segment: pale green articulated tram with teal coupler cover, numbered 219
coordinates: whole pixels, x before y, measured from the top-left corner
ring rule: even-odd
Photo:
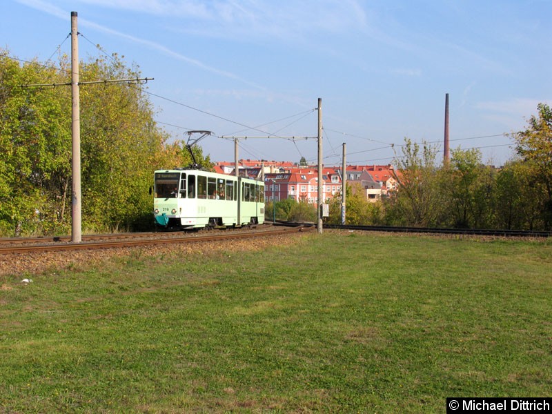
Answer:
[[[264,183],[197,169],[157,170],[153,216],[162,228],[240,227],[264,222]]]

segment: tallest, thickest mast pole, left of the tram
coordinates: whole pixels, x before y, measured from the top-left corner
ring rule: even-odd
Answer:
[[[77,12],[71,12],[71,141],[72,141],[72,223],[71,240],[81,237],[81,118],[79,104],[79,39]]]

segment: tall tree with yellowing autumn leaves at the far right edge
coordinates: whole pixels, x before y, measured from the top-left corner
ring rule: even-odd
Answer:
[[[532,115],[526,130],[514,137],[516,151],[530,169],[531,185],[542,188],[544,227],[552,228],[552,109],[539,103],[538,116]]]

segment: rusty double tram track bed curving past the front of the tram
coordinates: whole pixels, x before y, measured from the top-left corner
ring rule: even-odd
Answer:
[[[305,230],[304,226],[264,226],[262,229],[213,231],[208,233],[121,233],[111,235],[86,235],[81,243],[71,243],[70,236],[0,239],[0,255],[12,253],[47,253],[67,250],[93,250],[217,240],[244,239],[271,235],[290,234]]]

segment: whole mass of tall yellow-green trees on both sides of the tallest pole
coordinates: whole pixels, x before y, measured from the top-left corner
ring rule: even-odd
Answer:
[[[80,81],[137,79],[117,55],[80,64]],[[68,233],[71,214],[71,97],[67,57],[21,65],[0,52],[0,233]],[[153,171],[191,163],[181,141],[155,124],[144,86],[83,84],[81,192],[83,230],[151,224]],[[201,148],[200,164],[212,166]]]

